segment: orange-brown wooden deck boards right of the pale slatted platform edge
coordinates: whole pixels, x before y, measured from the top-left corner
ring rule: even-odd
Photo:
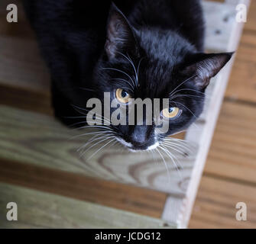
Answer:
[[[248,220],[235,220],[235,204]],[[241,37],[190,228],[256,228],[256,1]]]

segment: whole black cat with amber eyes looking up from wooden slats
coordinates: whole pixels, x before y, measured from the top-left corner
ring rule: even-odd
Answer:
[[[154,149],[189,127],[203,111],[209,80],[232,53],[203,53],[199,0],[26,0],[24,6],[50,68],[56,116],[81,125],[89,98],[170,98],[157,125],[110,124],[132,150]],[[111,109],[111,113],[115,109]],[[127,112],[128,113],[128,112]],[[143,112],[144,113],[144,112]]]

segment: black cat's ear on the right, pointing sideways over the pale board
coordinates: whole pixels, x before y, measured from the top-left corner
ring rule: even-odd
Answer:
[[[206,88],[209,80],[215,76],[232,58],[233,53],[199,53],[194,61],[183,69],[183,73],[193,76],[193,82],[199,89]]]

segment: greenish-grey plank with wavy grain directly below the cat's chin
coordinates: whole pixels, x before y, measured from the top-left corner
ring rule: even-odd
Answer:
[[[86,130],[87,131],[87,130]],[[87,131],[88,132],[88,131]],[[85,133],[85,131],[80,131]],[[184,154],[172,152],[180,161],[180,174],[171,159],[148,152],[130,153],[120,147],[108,147],[88,159],[105,142],[89,149],[83,157],[76,150],[91,135],[76,137],[78,132],[67,130],[52,117],[0,106],[0,155],[3,159],[28,162],[51,169],[81,173],[91,177],[152,188],[182,197],[193,168],[196,147]]]

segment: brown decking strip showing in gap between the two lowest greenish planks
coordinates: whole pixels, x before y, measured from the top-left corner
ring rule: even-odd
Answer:
[[[0,181],[160,218],[166,194],[0,159]]]

